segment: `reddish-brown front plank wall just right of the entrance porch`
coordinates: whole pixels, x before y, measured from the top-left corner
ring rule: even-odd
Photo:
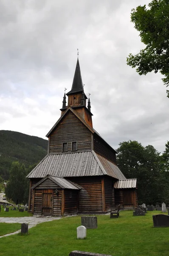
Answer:
[[[79,213],[102,212],[101,177],[72,177],[80,185]]]

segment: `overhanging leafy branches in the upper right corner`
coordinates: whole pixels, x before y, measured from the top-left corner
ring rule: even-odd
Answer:
[[[166,87],[169,85],[169,0],[152,0],[146,5],[132,9],[131,21],[140,32],[141,42],[146,47],[127,58],[127,64],[139,75],[158,71]],[[169,97],[169,90],[166,90]]]

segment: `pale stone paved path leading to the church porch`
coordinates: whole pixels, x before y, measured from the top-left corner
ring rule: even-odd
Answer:
[[[16,218],[6,218],[6,217],[3,218],[3,217],[1,217],[0,218],[0,222],[3,222],[3,223],[20,223],[20,224],[27,223],[28,224],[28,228],[31,228],[31,227],[36,226],[39,223],[42,223],[42,222],[55,221],[55,220],[59,220],[59,219],[60,219],[60,217],[50,217],[50,216],[46,216],[46,217],[40,217],[40,216],[39,217],[35,217],[35,216],[32,216],[32,217],[16,217]],[[17,230],[14,233],[6,234],[4,236],[11,236],[11,235],[20,233],[20,231],[21,230]],[[0,236],[0,238],[2,238],[4,236]]]

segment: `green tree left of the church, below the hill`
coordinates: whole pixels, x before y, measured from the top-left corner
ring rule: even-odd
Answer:
[[[9,182],[5,188],[6,197],[15,204],[25,204],[26,169],[24,164],[13,162],[11,165]]]

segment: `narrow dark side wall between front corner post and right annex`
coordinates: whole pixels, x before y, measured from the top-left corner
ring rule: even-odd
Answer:
[[[106,212],[107,212],[107,211],[110,211],[111,208],[115,207],[113,179],[111,179],[110,177],[104,178],[104,193],[105,193],[105,206],[106,206]]]

